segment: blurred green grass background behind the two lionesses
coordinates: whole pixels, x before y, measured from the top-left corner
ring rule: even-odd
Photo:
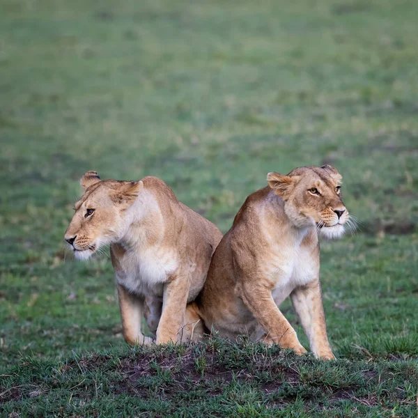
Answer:
[[[109,258],[65,256],[85,171],[158,176],[225,232],[268,171],[324,163],[364,224],[322,244],[334,351],[417,358],[417,1],[0,8],[0,369],[123,344]]]

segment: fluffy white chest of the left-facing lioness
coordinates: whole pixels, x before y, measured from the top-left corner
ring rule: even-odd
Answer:
[[[115,268],[118,284],[143,296],[162,297],[164,283],[178,268],[172,249],[150,247],[145,251],[125,251]]]

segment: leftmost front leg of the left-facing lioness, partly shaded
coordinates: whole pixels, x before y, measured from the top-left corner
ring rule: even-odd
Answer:
[[[123,338],[132,346],[150,344],[153,339],[141,332],[142,313],[144,311],[144,297],[129,293],[120,284],[118,286],[119,309],[121,310]]]

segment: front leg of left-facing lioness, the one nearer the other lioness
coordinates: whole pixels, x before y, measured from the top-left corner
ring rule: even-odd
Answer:
[[[181,327],[185,324],[189,278],[176,276],[164,284],[162,314],[157,328],[157,344],[181,342]]]

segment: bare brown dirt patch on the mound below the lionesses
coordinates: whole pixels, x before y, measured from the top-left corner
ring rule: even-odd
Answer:
[[[196,359],[204,358],[202,366],[196,366]],[[230,382],[259,382],[258,385],[266,394],[277,392],[286,383],[294,387],[300,385],[297,370],[290,366],[278,364],[270,357],[255,354],[248,368],[233,368],[219,360],[219,353],[141,353],[137,357],[121,359],[118,370],[121,380],[113,383],[116,394],[128,393],[141,398],[160,396],[165,399],[177,396],[179,390],[187,391],[194,388],[205,390],[207,396],[219,396],[222,387]],[[272,376],[281,376],[276,380],[260,380],[259,373],[266,371]],[[151,379],[150,379],[151,378]],[[160,379],[160,386],[155,385],[155,378]],[[210,390],[208,390],[210,388]],[[156,394],[157,391],[157,394]]]

